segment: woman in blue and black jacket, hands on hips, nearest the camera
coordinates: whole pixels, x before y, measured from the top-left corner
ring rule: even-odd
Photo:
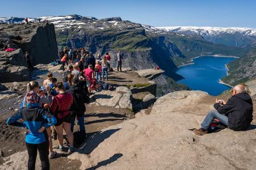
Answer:
[[[42,169],[49,169],[49,141],[46,128],[56,124],[56,118],[47,109],[38,107],[39,90],[38,82],[28,83],[28,89],[33,89],[26,95],[26,106],[19,112],[9,117],[6,124],[12,126],[27,127],[26,146],[28,151],[28,169],[35,169],[36,155],[39,156]],[[18,121],[22,119],[23,122]]]

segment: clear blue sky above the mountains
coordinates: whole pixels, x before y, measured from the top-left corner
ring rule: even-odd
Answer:
[[[256,28],[254,0],[82,1],[8,0],[1,2],[0,17],[39,17],[79,14],[98,19],[120,16],[123,20],[163,26]]]

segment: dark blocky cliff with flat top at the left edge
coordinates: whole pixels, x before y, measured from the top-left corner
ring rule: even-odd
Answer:
[[[30,79],[24,53],[28,52],[32,65],[49,63],[58,58],[53,24],[1,24],[0,39],[10,42],[13,52],[0,51],[0,81],[12,82]]]

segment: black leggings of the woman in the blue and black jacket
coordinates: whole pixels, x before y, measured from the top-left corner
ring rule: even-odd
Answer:
[[[47,138],[48,139],[48,138]],[[42,164],[43,170],[49,170],[49,143],[39,143],[39,144],[31,144],[27,143],[27,151],[28,151],[28,162],[27,162],[27,169],[28,170],[34,170],[35,169],[35,162],[36,162],[36,156],[39,151],[39,157]]]

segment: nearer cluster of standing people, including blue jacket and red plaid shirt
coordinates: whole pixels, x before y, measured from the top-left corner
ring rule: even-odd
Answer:
[[[69,77],[68,77],[69,79]],[[71,80],[71,79],[69,79]],[[36,155],[39,151],[42,169],[49,169],[48,158],[55,158],[52,140],[57,136],[59,150],[63,151],[63,130],[67,134],[68,152],[73,147],[73,127],[79,122],[79,133],[86,137],[84,126],[85,103],[89,103],[86,82],[74,76],[67,90],[63,82],[57,82],[52,73],[47,74],[43,86],[32,81],[27,84],[27,94],[20,110],[7,120],[7,125],[27,128],[26,146],[28,150],[28,169],[35,169]],[[23,121],[19,121],[20,118]]]

